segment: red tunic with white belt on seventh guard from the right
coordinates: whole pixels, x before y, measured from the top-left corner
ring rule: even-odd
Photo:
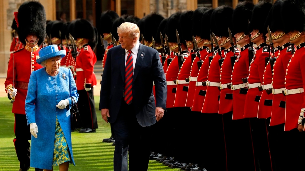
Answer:
[[[216,52],[215,52],[216,53]],[[222,57],[224,57],[224,49],[221,50]],[[218,60],[220,59],[220,55],[214,56],[210,63],[210,67],[208,69],[208,81],[220,83],[220,66]],[[219,108],[219,96],[220,91],[219,87],[216,86],[207,86],[206,88],[206,96],[203,102],[203,107],[201,113],[218,113]]]

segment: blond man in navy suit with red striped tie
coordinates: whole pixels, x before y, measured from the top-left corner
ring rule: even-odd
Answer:
[[[121,45],[108,51],[99,110],[103,120],[113,124],[116,136],[114,171],[128,170],[127,151],[129,169],[143,171],[148,169],[149,127],[163,117],[166,108],[166,79],[159,52],[140,44],[136,24],[122,23],[117,33]]]

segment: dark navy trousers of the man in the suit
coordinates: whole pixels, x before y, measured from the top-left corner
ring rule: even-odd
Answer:
[[[144,171],[148,169],[149,162],[149,127],[142,127],[138,124],[133,103],[127,105],[124,102],[124,98],[122,99],[117,120],[113,123],[116,143],[114,148],[113,170],[128,170],[127,155],[129,153],[129,170]]]

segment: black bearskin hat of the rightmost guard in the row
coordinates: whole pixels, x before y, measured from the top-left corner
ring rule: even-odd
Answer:
[[[304,0],[285,0],[281,4],[281,17],[284,24],[284,32],[290,31],[305,31],[305,2]]]

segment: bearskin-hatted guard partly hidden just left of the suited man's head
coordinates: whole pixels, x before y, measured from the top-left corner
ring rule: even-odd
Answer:
[[[112,42],[112,37],[110,36],[110,32],[111,32],[111,28],[113,25],[113,21],[117,18],[119,18],[117,13],[114,11],[111,11],[111,10],[102,12],[101,17],[100,17],[100,24],[101,24],[100,33],[102,34],[104,40],[106,40],[108,43],[108,46],[106,47],[105,54],[104,54],[103,60],[102,60],[103,68],[104,68],[104,65],[106,62],[108,50],[111,47],[113,47],[113,42]]]

